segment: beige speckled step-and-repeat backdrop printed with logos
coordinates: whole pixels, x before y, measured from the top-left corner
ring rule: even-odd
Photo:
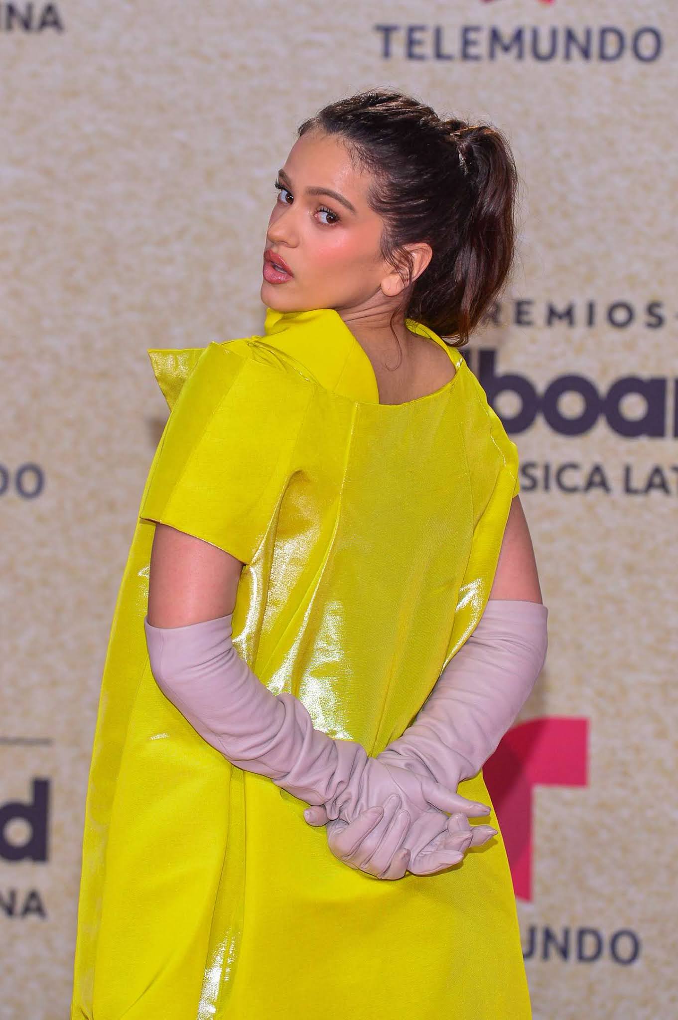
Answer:
[[[2,1020],[68,1016],[101,671],[167,413],[146,352],[262,330],[296,128],[374,86],[496,124],[521,175],[466,350],[551,611],[485,770],[534,1016],[678,1015],[677,56],[672,0],[0,3]]]

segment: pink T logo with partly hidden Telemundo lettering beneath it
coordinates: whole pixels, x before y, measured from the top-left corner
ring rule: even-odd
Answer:
[[[513,726],[482,769],[506,848],[516,897],[532,902],[532,797],[536,786],[586,786],[588,720],[531,719]],[[631,928],[609,934],[594,924],[530,924],[522,934],[526,961],[635,963],[640,937]]]

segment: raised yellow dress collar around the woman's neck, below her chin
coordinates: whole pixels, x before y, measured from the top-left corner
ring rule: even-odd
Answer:
[[[405,324],[449,350],[445,341],[423,323],[408,318]],[[350,400],[379,403],[372,363],[334,308],[302,312],[266,308],[262,341],[294,358],[300,370],[305,368],[326,390]]]

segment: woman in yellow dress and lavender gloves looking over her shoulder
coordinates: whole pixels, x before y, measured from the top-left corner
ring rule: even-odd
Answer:
[[[149,352],[170,415],[104,667],[71,1017],[524,1020],[480,768],[546,610],[458,350],[509,272],[515,166],[376,90],[305,121],[275,187],[263,336]]]

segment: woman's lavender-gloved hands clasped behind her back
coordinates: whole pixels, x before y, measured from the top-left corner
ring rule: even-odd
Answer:
[[[487,814],[487,805],[406,767],[397,752],[383,751],[367,766],[369,807],[347,806],[336,818],[322,806],[304,812],[310,825],[326,825],[330,851],[349,867],[382,879],[433,874],[497,834],[490,825],[468,823],[468,816]]]

